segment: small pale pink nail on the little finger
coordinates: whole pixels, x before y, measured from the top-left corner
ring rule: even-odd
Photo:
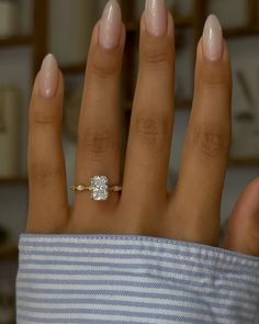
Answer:
[[[58,65],[55,56],[48,54],[42,63],[40,71],[40,92],[44,98],[52,98],[57,91]]]

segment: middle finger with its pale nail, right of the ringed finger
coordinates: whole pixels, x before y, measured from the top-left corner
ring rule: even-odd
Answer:
[[[165,2],[147,1],[121,200],[122,204],[137,202],[133,209],[142,205],[154,211],[156,203],[165,204],[174,116],[173,34]]]

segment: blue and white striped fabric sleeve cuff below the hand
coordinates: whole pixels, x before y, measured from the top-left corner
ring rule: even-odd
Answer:
[[[259,258],[140,235],[20,237],[16,323],[255,323]]]

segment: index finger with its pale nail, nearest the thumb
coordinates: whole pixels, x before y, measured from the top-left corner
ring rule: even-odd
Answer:
[[[195,87],[172,213],[184,237],[217,245],[232,137],[232,80],[226,43],[211,15],[198,45]]]

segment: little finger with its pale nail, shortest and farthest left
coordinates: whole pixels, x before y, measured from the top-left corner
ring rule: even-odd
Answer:
[[[58,232],[68,220],[61,144],[63,97],[63,76],[49,54],[36,77],[30,107],[29,232]]]

